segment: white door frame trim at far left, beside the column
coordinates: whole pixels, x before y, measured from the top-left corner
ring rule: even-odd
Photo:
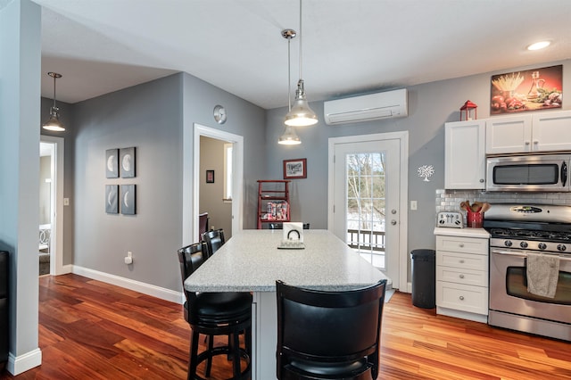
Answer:
[[[63,137],[40,135],[40,143],[53,144],[52,153],[52,231],[50,237],[50,275],[62,275],[63,271]],[[38,146],[39,149],[39,146]]]

